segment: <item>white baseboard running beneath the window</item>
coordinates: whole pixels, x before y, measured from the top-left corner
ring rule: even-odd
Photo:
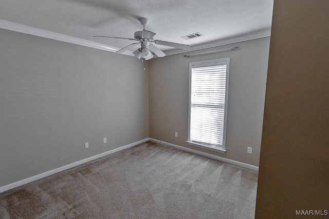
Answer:
[[[162,144],[162,145],[167,145],[169,147],[177,148],[177,149],[180,149],[180,150],[183,150],[183,151],[188,151],[188,152],[191,152],[191,153],[195,153],[195,154],[203,155],[203,156],[206,156],[206,157],[210,157],[210,158],[213,158],[213,159],[218,160],[218,161],[223,161],[223,162],[226,162],[226,163],[229,163],[229,164],[234,164],[236,166],[245,167],[245,168],[248,168],[248,169],[251,169],[251,170],[258,171],[258,169],[259,169],[259,167],[257,167],[257,166],[242,163],[242,162],[239,162],[239,161],[230,160],[228,158],[208,154],[208,153],[193,150],[193,149],[190,149],[190,148],[174,145],[174,144],[171,144],[171,143],[168,143],[168,142],[162,142],[162,141],[156,140],[154,138],[150,138],[150,141],[156,142],[156,143],[159,143],[159,144]]]

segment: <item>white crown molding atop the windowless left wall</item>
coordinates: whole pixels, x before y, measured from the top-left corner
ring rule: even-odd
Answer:
[[[8,22],[8,21],[3,21],[1,19],[0,19],[0,28],[16,31],[16,32],[20,32],[20,33],[26,33],[26,34],[30,34],[30,35],[34,35],[34,36],[41,36],[41,37],[45,37],[45,38],[49,38],[49,39],[55,39],[57,41],[62,41],[62,42],[66,42],[66,43],[77,44],[77,45],[91,47],[91,48],[95,48],[95,49],[101,49],[101,50],[110,51],[110,52],[116,52],[119,50],[119,48],[116,48],[116,47],[111,47],[111,46],[107,46],[104,44],[95,43],[92,41],[86,41],[85,39],[67,36],[67,35],[60,34],[60,33],[54,33],[54,32],[50,32],[47,30],[42,30],[42,29],[29,27],[29,26],[25,26],[25,25],[21,25],[21,24],[16,24],[16,23]],[[132,54],[130,51],[125,51],[121,54],[134,56],[134,54]]]

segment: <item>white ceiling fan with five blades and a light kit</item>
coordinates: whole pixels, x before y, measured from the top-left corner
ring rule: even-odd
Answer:
[[[138,43],[130,44],[130,45],[118,50],[117,52],[122,53],[122,52],[129,50],[130,48],[133,48],[134,46],[140,44],[141,48],[138,48],[137,50],[135,50],[133,52],[133,54],[138,59],[144,58],[145,60],[149,60],[150,58],[153,57],[152,52],[154,54],[156,54],[158,57],[163,57],[166,55],[155,45],[170,46],[170,47],[175,47],[175,48],[179,48],[179,49],[190,49],[189,45],[177,44],[177,43],[172,43],[172,42],[167,42],[167,41],[159,41],[158,39],[154,39],[153,36],[155,35],[155,33],[145,30],[145,26],[148,25],[149,19],[142,17],[139,19],[139,22],[141,25],[143,25],[143,30],[136,31],[134,38],[124,38],[124,37],[114,37],[114,36],[94,36],[94,37],[106,37],[106,38],[128,39],[130,41],[139,41]]]

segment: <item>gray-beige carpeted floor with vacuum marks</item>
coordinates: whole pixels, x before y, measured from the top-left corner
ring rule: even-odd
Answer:
[[[254,218],[257,177],[147,142],[0,194],[0,218]]]

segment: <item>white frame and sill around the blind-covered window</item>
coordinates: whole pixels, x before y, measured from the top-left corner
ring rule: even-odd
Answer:
[[[226,81],[225,81],[225,106],[224,106],[224,127],[223,127],[223,145],[222,147],[212,146],[208,144],[202,144],[198,142],[192,142],[190,136],[190,125],[191,125],[191,83],[192,83],[192,68],[215,66],[216,64],[226,63]],[[218,58],[207,61],[192,62],[189,64],[189,113],[188,113],[188,140],[187,143],[192,146],[206,148],[209,150],[225,153],[226,152],[226,131],[227,131],[227,109],[228,109],[228,90],[229,90],[229,69],[230,69],[230,58]]]

